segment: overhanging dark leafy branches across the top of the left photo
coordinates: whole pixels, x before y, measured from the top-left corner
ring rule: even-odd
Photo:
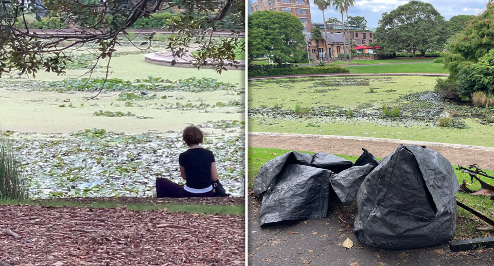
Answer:
[[[239,63],[235,61],[236,47],[245,47],[235,30],[232,38],[211,41],[215,23],[226,15],[240,25],[245,23],[244,0],[5,0],[0,6],[0,76],[12,70],[35,76],[40,69],[63,74],[72,51],[86,43],[99,47],[96,62],[111,59],[121,33],[128,37],[126,29],[136,21],[156,20],[154,16],[162,12],[171,13],[164,29],[176,33],[168,38],[167,48],[175,57],[197,49],[192,56],[198,68],[211,64],[206,59],[214,59],[221,73],[226,65]],[[39,34],[29,28],[29,17],[42,22],[42,15],[54,22],[54,27]],[[61,30],[68,25],[73,29]],[[151,33],[149,41],[137,46],[150,48],[153,36]],[[70,44],[61,45],[67,42]]]

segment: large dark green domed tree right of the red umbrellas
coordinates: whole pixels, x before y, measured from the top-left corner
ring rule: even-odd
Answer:
[[[410,1],[382,14],[376,29],[376,45],[385,54],[395,51],[437,49],[450,37],[444,17],[429,3]]]

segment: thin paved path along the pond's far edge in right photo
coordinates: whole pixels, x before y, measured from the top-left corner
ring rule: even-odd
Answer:
[[[299,79],[299,78],[327,78],[327,77],[449,77],[448,73],[327,73],[327,74],[295,74],[279,76],[249,77],[248,81],[268,79]]]

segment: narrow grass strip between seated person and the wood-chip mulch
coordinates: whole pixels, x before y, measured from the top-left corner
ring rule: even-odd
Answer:
[[[64,200],[49,200],[49,201],[11,201],[0,200],[0,205],[41,205],[45,207],[90,207],[98,209],[110,209],[122,206],[128,210],[146,211],[146,210],[164,210],[165,208],[169,212],[188,212],[191,214],[220,214],[220,215],[245,215],[245,205],[195,205],[195,204],[179,204],[179,203],[141,203],[141,204],[129,204],[120,205],[112,202],[91,202],[91,203],[78,203],[69,202]]]

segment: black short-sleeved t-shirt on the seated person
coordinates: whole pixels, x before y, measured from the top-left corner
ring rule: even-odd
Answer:
[[[211,163],[215,163],[213,152],[204,148],[188,149],[179,156],[179,164],[185,169],[186,185],[202,189],[211,185]]]

